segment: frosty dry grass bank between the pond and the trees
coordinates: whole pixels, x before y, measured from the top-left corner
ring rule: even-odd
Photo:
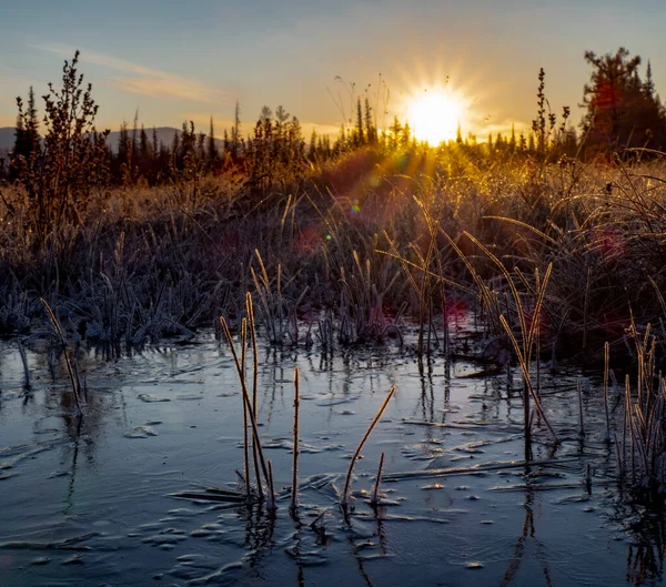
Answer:
[[[504,315],[523,344],[519,305],[536,300],[534,276],[551,265],[543,348],[601,360],[604,342],[624,346],[629,308],[638,324],[666,317],[656,294],[666,283],[659,160],[543,168],[455,149],[360,158],[262,199],[238,178],[199,182],[195,200],[186,184],[100,192],[47,249],[24,230],[29,203],[4,189],[0,328],[28,332],[43,320],[43,296],[77,336],[141,344],[221,313],[233,325],[254,290],[258,326],[274,344],[402,337],[406,314],[423,356],[446,347],[453,306],[478,305],[497,334]]]

